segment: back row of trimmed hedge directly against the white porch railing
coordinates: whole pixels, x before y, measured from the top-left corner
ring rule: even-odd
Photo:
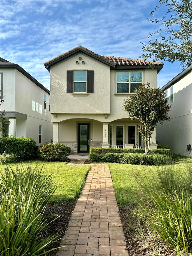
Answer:
[[[106,153],[145,153],[143,148],[90,148],[90,154],[103,155]],[[170,155],[170,149],[157,148],[149,150],[150,154]]]

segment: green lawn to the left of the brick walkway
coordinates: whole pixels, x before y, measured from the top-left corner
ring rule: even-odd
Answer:
[[[24,162],[25,167],[28,162]],[[78,197],[84,184],[86,175],[90,170],[89,165],[72,166],[66,165],[66,162],[42,162],[31,161],[31,166],[43,165],[43,170],[47,170],[47,174],[53,173],[53,178],[57,189],[50,200],[50,203],[73,201]],[[20,163],[18,165],[21,165]],[[10,164],[14,167],[15,164]],[[5,165],[0,165],[0,172],[3,173]]]

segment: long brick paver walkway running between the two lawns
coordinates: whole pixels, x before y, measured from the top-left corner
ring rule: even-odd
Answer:
[[[58,256],[128,256],[111,174],[92,165]]]

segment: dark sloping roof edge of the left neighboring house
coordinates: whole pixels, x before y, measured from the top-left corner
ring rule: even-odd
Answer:
[[[39,86],[42,90],[44,90],[46,93],[50,95],[50,91],[45,88],[41,83],[39,83],[33,76],[31,76],[27,71],[25,71],[22,67],[20,67],[18,64],[11,63],[3,58],[0,57],[0,68],[15,68],[17,69],[21,74],[26,76],[29,80],[31,80],[33,83],[35,83],[37,86]]]

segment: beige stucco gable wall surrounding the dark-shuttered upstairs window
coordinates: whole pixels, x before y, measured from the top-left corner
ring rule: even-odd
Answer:
[[[82,59],[79,60],[78,57]],[[79,64],[76,64],[76,61]],[[81,61],[85,61],[82,64]],[[67,70],[94,70],[94,93],[75,96],[66,93]],[[51,73],[51,113],[110,113],[110,67],[79,53],[55,64]],[[99,104],[98,104],[99,102]]]

